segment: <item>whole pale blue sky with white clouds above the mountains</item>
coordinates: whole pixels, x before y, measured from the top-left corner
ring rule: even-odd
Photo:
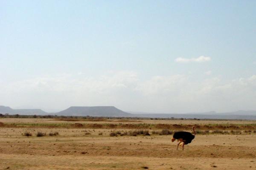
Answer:
[[[255,0],[0,1],[0,105],[256,110]]]

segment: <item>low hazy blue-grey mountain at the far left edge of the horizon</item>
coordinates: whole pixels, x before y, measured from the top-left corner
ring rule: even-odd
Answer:
[[[42,111],[41,109],[12,109],[8,106],[0,106],[0,113],[23,114],[23,115],[47,114],[47,112]]]

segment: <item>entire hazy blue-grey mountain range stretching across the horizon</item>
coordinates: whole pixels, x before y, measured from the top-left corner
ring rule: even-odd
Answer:
[[[72,106],[57,113],[47,113],[41,109],[12,109],[0,106],[0,113],[21,115],[58,115],[58,116],[102,116],[102,117],[141,117],[141,118],[184,118],[184,119],[248,119],[256,120],[256,111],[234,111],[217,113],[215,111],[203,113],[145,113],[125,112],[114,106]]]

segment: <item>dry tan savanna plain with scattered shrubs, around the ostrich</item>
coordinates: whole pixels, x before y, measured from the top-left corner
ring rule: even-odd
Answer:
[[[256,170],[255,141],[255,121],[1,118],[0,169]]]

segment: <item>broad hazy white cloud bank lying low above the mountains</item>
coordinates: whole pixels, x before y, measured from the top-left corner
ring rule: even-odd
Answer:
[[[0,105],[65,109],[114,105],[125,111],[200,112],[256,110],[256,75],[233,80],[195,80],[191,75],[142,80],[134,71],[99,77],[63,74],[0,84]]]

